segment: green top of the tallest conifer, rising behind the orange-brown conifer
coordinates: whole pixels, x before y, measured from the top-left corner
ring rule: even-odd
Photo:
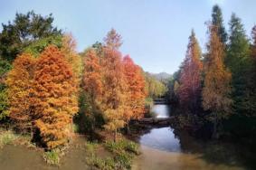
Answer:
[[[212,24],[218,28],[218,36],[220,37],[221,42],[225,44],[228,39],[228,34],[223,25],[223,13],[219,5],[213,5]]]

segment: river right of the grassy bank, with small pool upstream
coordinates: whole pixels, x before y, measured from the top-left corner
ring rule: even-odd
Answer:
[[[166,118],[171,109],[168,105],[155,105],[152,112],[156,118]],[[253,169],[242,157],[241,153],[245,152],[242,148],[230,143],[196,139],[185,132],[175,134],[172,127],[152,128],[141,135],[138,142],[141,155],[135,160],[134,170]]]

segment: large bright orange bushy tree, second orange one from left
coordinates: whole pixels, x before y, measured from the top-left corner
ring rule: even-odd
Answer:
[[[78,111],[76,86],[71,65],[55,46],[40,55],[34,71],[34,107],[43,143],[63,146],[69,138],[72,116]]]

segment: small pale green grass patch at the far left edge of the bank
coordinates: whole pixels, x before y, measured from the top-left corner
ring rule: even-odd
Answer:
[[[16,140],[18,137],[19,136],[14,134],[14,132],[11,130],[0,132],[0,147],[13,144],[14,140]]]

